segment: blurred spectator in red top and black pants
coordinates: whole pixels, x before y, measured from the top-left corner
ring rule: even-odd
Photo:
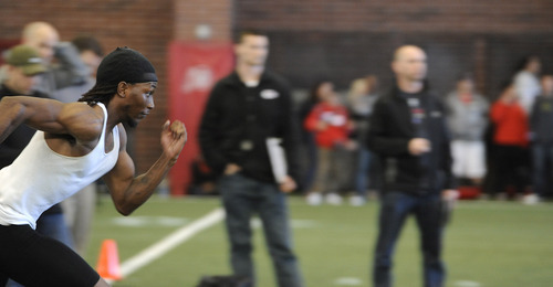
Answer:
[[[528,184],[529,168],[529,119],[520,103],[515,86],[509,83],[499,99],[491,106],[493,123],[493,183],[490,196],[502,200],[508,187],[513,194],[522,196]]]

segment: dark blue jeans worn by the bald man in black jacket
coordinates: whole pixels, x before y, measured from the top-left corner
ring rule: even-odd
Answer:
[[[387,192],[380,204],[378,241],[373,267],[374,286],[393,286],[392,256],[397,237],[410,213],[415,215],[421,235],[425,287],[444,286],[446,268],[441,262],[442,205],[439,194],[418,196],[403,192]]]

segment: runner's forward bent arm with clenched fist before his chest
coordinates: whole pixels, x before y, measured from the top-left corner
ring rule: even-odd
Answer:
[[[182,123],[176,120],[169,125],[167,120],[161,131],[161,156],[146,173],[135,177],[134,162],[124,148],[126,134],[122,125],[118,128],[122,135],[119,158],[115,167],[103,179],[109,189],[117,211],[123,215],[128,215],[149,199],[159,182],[175,164],[186,144],[187,134]]]

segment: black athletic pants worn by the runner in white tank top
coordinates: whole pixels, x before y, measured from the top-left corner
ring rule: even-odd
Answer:
[[[75,252],[29,225],[0,225],[0,286],[94,286],[100,275]]]

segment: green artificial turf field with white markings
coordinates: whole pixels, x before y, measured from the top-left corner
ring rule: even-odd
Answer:
[[[95,266],[102,241],[114,238],[123,263],[217,208],[219,201],[215,198],[153,198],[133,215],[123,217],[103,198],[86,259]],[[299,196],[290,198],[305,286],[371,286],[377,208],[375,202],[363,208],[314,208]],[[259,228],[255,234],[259,287],[275,286]],[[553,286],[552,203],[526,206],[517,202],[460,202],[446,237],[447,286]],[[410,219],[395,256],[396,287],[421,286],[418,244],[418,232]],[[114,286],[194,287],[202,275],[230,273],[227,248],[223,225],[218,223]]]

